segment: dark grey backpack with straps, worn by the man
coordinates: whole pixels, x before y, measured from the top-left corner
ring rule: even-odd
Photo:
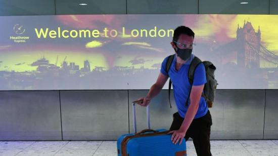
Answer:
[[[173,62],[175,54],[168,56],[167,58],[167,63],[166,63],[166,72],[168,73],[170,70],[170,66]],[[188,70],[188,79],[189,79],[189,83],[191,84],[191,86],[193,85],[193,80],[194,80],[194,72],[196,67],[200,64],[203,63],[205,66],[205,70],[206,70],[206,77],[207,77],[207,83],[204,86],[204,93],[202,93],[202,97],[205,98],[206,103],[208,105],[209,108],[212,107],[212,104],[214,102],[214,96],[215,96],[215,91],[216,91],[216,87],[217,87],[217,81],[215,80],[215,76],[214,76],[214,71],[216,69],[216,67],[210,62],[210,61],[201,61],[197,56],[194,57],[194,59],[192,60],[192,62],[190,63],[190,67]],[[168,96],[169,96],[169,103],[170,103],[170,107],[171,106],[171,102],[170,102],[170,92],[171,92],[171,79],[169,80],[169,89],[168,89]],[[192,87],[191,87],[192,89]],[[186,101],[186,106],[188,106],[188,100],[190,97],[190,93],[191,93],[191,89],[189,92],[189,96],[187,98]]]

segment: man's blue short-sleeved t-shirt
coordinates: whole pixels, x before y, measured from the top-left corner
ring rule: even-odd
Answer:
[[[167,74],[166,72],[166,63],[167,63],[167,57],[163,60],[160,72],[166,76],[169,76],[172,84],[173,84],[173,91],[174,91],[174,98],[176,102],[176,106],[178,109],[179,115],[184,118],[186,115],[186,112],[188,110],[188,107],[190,105],[190,98],[188,101],[188,106],[186,106],[186,101],[191,89],[191,85],[188,79],[188,70],[191,61],[193,60],[194,55],[192,54],[190,59],[184,63],[180,69],[177,71],[175,66],[176,66],[176,56],[173,59],[173,62],[171,64],[171,67],[169,69],[169,72]],[[204,85],[207,83],[206,79],[206,71],[205,71],[205,66],[203,63],[199,64],[196,67],[195,74],[194,74],[194,80],[193,80],[193,86],[199,86],[199,85]],[[208,106],[203,97],[201,97],[200,102],[199,102],[199,108],[198,111],[194,117],[194,119],[201,118],[204,116],[208,111]]]

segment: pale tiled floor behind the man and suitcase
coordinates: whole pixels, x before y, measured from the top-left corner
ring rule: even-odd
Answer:
[[[0,141],[0,155],[117,155],[116,141]],[[188,155],[196,155],[187,141]],[[213,155],[278,156],[278,140],[213,140]]]

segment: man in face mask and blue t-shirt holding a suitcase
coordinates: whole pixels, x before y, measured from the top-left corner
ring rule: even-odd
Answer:
[[[173,41],[170,43],[175,51],[175,56],[167,73],[164,59],[160,74],[156,83],[151,87],[141,106],[147,106],[163,88],[168,77],[173,84],[174,98],[178,112],[173,114],[173,122],[170,127],[171,140],[174,144],[181,144],[183,137],[190,137],[197,155],[211,155],[210,152],[210,127],[212,125],[211,115],[207,103],[201,97],[206,81],[204,64],[196,67],[193,85],[188,80],[188,70],[194,58],[192,54],[195,33],[186,26],[179,26],[174,30]],[[189,98],[188,98],[189,97]],[[187,103],[188,101],[188,103]],[[187,103],[187,104],[186,104]]]

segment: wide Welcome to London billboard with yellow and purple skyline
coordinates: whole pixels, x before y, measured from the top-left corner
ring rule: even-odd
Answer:
[[[0,17],[0,90],[150,89],[180,25],[218,89],[278,89],[277,15]],[[168,85],[164,86],[164,89]]]

